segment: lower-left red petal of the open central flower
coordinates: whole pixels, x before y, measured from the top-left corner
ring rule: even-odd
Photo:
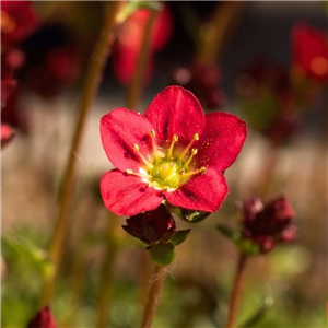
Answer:
[[[105,207],[116,215],[136,215],[156,209],[163,195],[142,183],[140,177],[118,169],[107,172],[101,181]]]

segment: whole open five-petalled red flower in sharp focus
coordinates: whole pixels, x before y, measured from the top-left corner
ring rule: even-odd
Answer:
[[[105,206],[134,215],[172,206],[214,212],[227,195],[223,172],[246,139],[246,124],[227,113],[203,115],[180,86],[156,95],[144,115],[116,108],[101,121],[105,152],[116,166],[101,181]]]

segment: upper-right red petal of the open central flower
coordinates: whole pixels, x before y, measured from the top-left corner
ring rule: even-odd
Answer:
[[[206,115],[206,128],[197,148],[201,166],[224,171],[233,164],[247,137],[246,122],[227,113]]]

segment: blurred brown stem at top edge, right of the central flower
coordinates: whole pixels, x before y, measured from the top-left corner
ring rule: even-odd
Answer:
[[[237,22],[243,4],[244,0],[224,0],[223,3],[219,1],[212,19],[200,31],[200,49],[197,58],[201,62],[213,62],[221,55],[224,42]]]

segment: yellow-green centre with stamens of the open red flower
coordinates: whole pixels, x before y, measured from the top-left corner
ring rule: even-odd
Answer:
[[[197,149],[191,149],[192,143],[199,140],[197,133],[183,151],[174,151],[175,144],[178,141],[178,136],[173,136],[172,142],[166,149],[166,152],[165,149],[163,152],[163,149],[157,147],[154,130],[151,130],[149,134],[153,144],[152,153],[149,154],[150,160],[145,159],[139,152],[139,145],[134,144],[133,149],[144,165],[140,167],[139,173],[127,169],[127,174],[140,176],[145,183],[148,183],[149,187],[174,191],[192,176],[203,174],[206,172],[206,167],[200,167],[198,169],[190,167],[192,157],[197,154]]]

